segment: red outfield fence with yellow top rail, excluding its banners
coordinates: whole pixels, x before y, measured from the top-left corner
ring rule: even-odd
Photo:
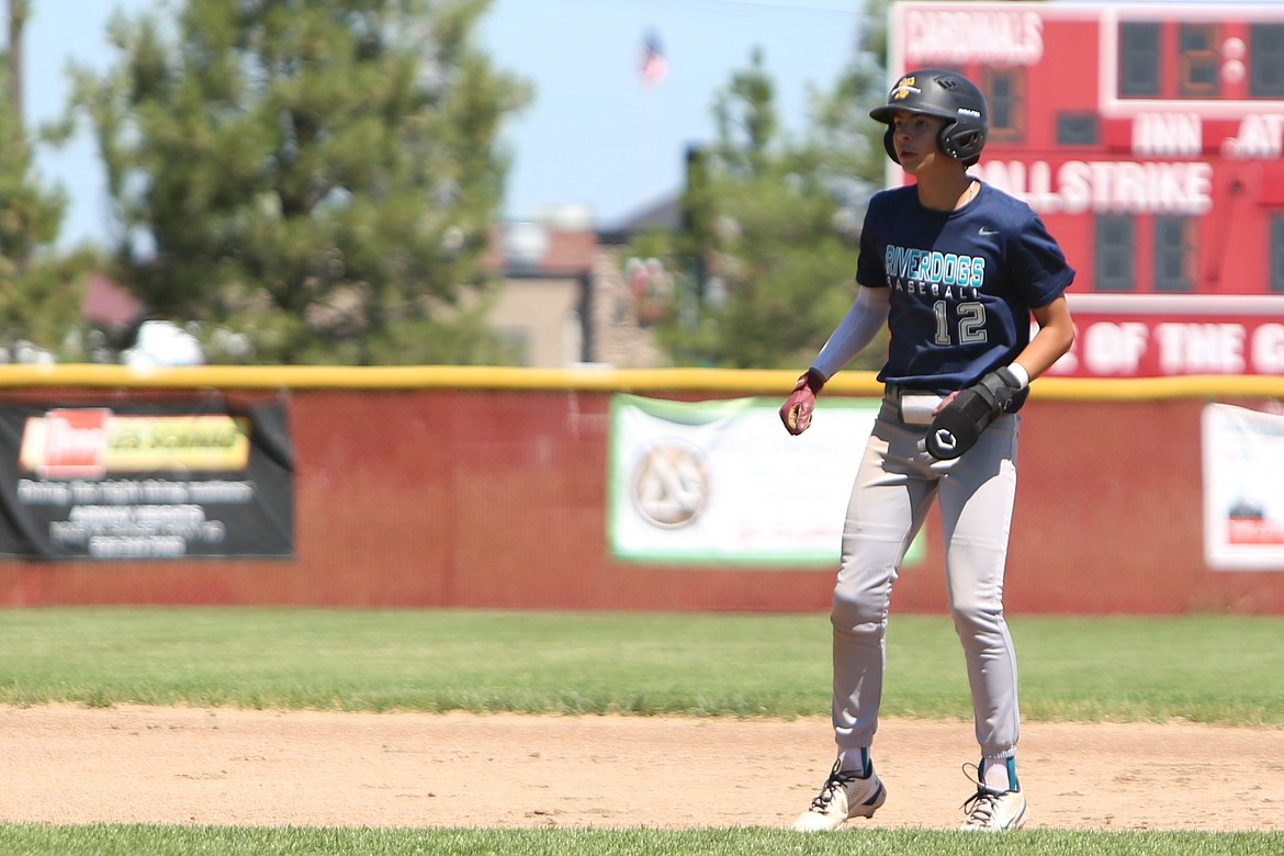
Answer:
[[[782,398],[792,372],[5,367],[0,391],[82,399],[272,393],[293,441],[293,558],[0,561],[0,603],[824,611],[833,569],[619,562],[607,544],[615,391]],[[849,372],[826,397],[876,397]],[[1045,379],[1025,408],[1008,608],[1284,613],[1284,570],[1206,565],[1201,413],[1279,412],[1284,380]],[[823,402],[818,418],[823,418]],[[858,440],[859,441],[859,440]],[[1284,488],[1281,488],[1284,490]],[[940,524],[894,593],[944,610]],[[835,545],[837,553],[837,544]]]

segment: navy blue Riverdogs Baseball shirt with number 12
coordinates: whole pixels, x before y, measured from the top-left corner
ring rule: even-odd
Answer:
[[[982,184],[958,210],[932,210],[913,186],[869,200],[856,282],[891,289],[878,380],[946,394],[1007,366],[1030,343],[1030,311],[1073,281],[1034,209]]]

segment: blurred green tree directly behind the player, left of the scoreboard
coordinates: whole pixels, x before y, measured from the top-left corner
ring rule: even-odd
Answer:
[[[755,51],[714,101],[714,141],[688,157],[683,227],[638,236],[634,257],[675,273],[659,340],[675,364],[797,368],[851,305],[864,203],[882,185],[885,0],[799,135],[781,126],[767,58]],[[877,367],[878,345],[854,363]]]

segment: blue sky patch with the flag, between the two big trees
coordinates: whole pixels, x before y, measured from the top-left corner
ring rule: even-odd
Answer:
[[[582,203],[611,225],[675,191],[687,145],[713,137],[714,98],[755,46],[786,124],[800,128],[808,86],[832,86],[855,55],[858,8],[858,0],[499,0],[484,44],[537,90],[506,133],[515,155],[508,214]],[[639,76],[648,28],[669,67],[656,85]]]

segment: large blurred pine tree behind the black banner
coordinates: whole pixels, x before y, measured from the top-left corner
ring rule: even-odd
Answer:
[[[488,0],[185,0],[80,69],[121,276],[257,362],[498,362],[480,259],[530,98],[474,45]],[[218,359],[220,354],[212,354]]]

